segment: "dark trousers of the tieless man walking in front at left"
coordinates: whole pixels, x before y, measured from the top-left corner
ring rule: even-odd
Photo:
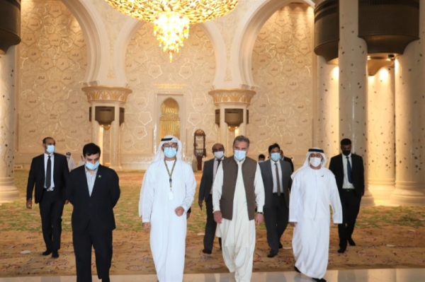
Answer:
[[[73,232],[72,242],[77,268],[77,282],[91,282],[91,247],[96,257],[98,278],[109,281],[109,269],[112,261],[112,231],[97,233],[89,226],[82,233]]]

